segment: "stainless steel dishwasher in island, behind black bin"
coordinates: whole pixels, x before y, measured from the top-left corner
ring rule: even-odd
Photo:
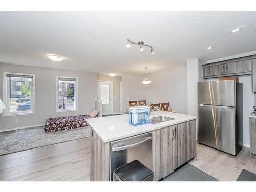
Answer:
[[[110,178],[113,171],[133,160],[152,170],[152,132],[110,142]]]

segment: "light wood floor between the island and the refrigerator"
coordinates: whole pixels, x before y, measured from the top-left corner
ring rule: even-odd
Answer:
[[[256,158],[250,158],[250,148],[243,147],[237,156],[197,144],[197,160],[189,163],[220,181],[236,181],[242,169],[256,174]]]

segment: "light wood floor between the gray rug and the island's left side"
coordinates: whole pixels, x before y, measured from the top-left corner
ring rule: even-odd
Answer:
[[[90,138],[0,156],[0,181],[89,181]]]

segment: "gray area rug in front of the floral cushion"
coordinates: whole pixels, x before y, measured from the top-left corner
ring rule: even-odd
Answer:
[[[89,126],[45,133],[44,126],[0,133],[0,156],[46,145],[90,137]]]

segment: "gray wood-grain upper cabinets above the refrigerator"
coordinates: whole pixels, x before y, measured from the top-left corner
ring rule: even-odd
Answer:
[[[256,92],[256,55],[203,65],[203,78],[248,75],[252,77],[252,91]]]

